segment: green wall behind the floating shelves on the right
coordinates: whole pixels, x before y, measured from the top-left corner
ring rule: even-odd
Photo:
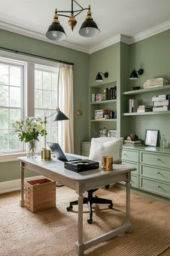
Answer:
[[[129,80],[129,90],[134,85],[143,87],[146,80],[154,77],[165,77],[170,84],[170,30],[163,33],[153,35],[150,38],[141,40],[130,46],[130,69],[144,69],[143,75],[139,76],[138,80]],[[154,89],[153,89],[154,92]],[[164,92],[170,94],[170,92]],[[155,95],[164,94],[154,93]],[[144,103],[150,103],[153,94],[143,94],[140,100]],[[143,98],[142,98],[143,97]],[[127,117],[128,118],[128,117]],[[165,135],[170,146],[170,116],[154,115],[154,116],[132,116],[128,118],[128,123],[132,126],[132,131],[135,132],[141,139],[145,139],[146,129],[158,129],[160,135]],[[160,137],[159,137],[160,140]],[[159,142],[159,141],[158,141]],[[159,144],[158,144],[159,145]]]

